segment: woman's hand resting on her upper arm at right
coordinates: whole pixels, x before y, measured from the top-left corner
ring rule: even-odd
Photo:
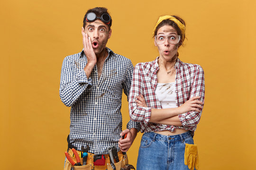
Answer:
[[[191,99],[189,99],[187,102],[184,102],[183,105],[181,105],[180,107],[178,107],[178,110],[180,112],[180,114],[182,113],[186,113],[188,111],[197,111],[200,112],[200,109],[202,109],[203,107],[201,105],[203,105],[203,102],[197,100],[200,99],[200,96],[196,96],[196,97],[192,97]],[[201,105],[200,105],[201,104]]]

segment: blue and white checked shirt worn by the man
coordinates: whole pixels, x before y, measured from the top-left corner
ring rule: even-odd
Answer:
[[[98,79],[97,66],[87,79],[83,68],[87,63],[84,52],[65,57],[61,70],[60,98],[70,107],[70,142],[81,150],[89,144],[90,153],[107,154],[107,147],[118,141],[122,131],[122,92],[128,96],[133,65],[130,59],[109,52]],[[129,121],[127,128],[137,128]]]

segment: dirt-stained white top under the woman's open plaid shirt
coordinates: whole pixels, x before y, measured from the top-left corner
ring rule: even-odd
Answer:
[[[157,83],[155,94],[163,109],[176,108],[176,87],[175,82]]]

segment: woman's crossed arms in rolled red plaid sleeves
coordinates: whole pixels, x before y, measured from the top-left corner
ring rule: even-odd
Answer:
[[[155,109],[155,106],[146,106],[142,103],[145,99],[141,94],[144,93],[144,88],[149,88],[143,79],[142,69],[138,65],[134,69],[129,96],[130,118],[146,124],[148,122],[154,122],[188,128],[195,127],[200,120],[201,110],[204,104],[204,74],[202,68],[200,66],[195,68],[195,74],[191,80],[190,99],[180,107],[170,109]],[[148,94],[144,93],[144,95]],[[152,96],[150,100],[152,101]],[[149,101],[147,103],[154,104],[154,102]]]

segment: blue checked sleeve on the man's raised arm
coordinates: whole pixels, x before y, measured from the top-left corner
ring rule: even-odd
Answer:
[[[91,88],[91,78],[87,79],[82,69],[77,75],[71,61],[66,57],[62,64],[60,80],[60,98],[68,107],[79,98],[86,88]]]

